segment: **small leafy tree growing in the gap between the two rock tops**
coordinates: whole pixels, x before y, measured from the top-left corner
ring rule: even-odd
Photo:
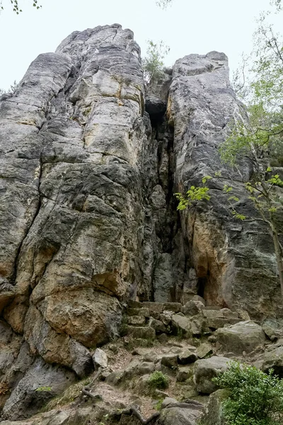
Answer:
[[[169,50],[169,47],[163,41],[156,43],[152,40],[148,41],[146,57],[142,61],[142,65],[144,80],[149,87],[161,77],[164,67],[163,59],[168,55]]]

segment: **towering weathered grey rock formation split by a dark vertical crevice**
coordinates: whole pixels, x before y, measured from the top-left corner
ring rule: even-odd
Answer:
[[[240,115],[223,53],[178,60],[146,94],[139,46],[117,24],[72,33],[1,97],[3,419],[91,373],[128,300],[200,295],[255,319],[280,313],[271,237],[236,222],[221,195],[231,170],[217,148]],[[173,194],[219,169],[217,201],[179,214]]]

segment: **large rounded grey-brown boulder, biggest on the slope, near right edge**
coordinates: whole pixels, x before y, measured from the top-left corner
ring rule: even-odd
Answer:
[[[251,321],[238,322],[232,326],[217,329],[215,335],[217,344],[222,350],[235,354],[242,354],[243,351],[250,353],[266,341],[262,327]]]

